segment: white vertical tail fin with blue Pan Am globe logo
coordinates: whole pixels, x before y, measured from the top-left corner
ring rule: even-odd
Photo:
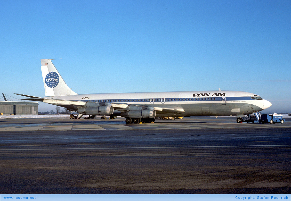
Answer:
[[[60,73],[52,63],[52,59],[40,59],[42,80],[45,86],[45,96],[76,95],[68,87]]]

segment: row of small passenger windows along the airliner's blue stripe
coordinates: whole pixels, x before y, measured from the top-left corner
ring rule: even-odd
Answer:
[[[215,100],[215,98],[149,98],[149,99],[116,99],[116,100],[89,100],[89,101],[118,103],[118,102],[194,101],[194,100]]]

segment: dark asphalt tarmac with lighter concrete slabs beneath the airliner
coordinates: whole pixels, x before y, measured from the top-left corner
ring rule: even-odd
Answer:
[[[0,120],[1,194],[290,194],[291,119]]]

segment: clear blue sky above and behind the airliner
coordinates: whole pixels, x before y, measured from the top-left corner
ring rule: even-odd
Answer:
[[[220,88],[291,112],[290,1],[0,0],[0,9],[9,96],[45,96],[40,59],[62,58],[53,63],[78,94]]]

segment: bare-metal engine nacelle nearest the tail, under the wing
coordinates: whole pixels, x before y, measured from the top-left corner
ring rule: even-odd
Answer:
[[[93,107],[81,107],[77,112],[85,115],[111,115],[113,114],[113,110],[113,106],[108,104]]]

